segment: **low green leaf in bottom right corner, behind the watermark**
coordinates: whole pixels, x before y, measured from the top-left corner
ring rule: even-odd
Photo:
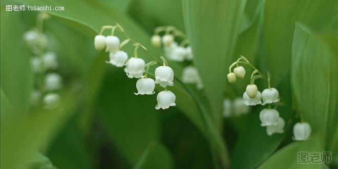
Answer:
[[[322,139],[320,134],[315,133],[311,136],[311,139],[307,141],[297,141],[293,142],[281,150],[273,154],[269,159],[267,159],[262,165],[258,168],[276,168],[276,169],[285,169],[285,168],[299,168],[299,169],[311,169],[311,168],[327,168],[325,164],[303,164],[298,162],[298,153],[299,152],[318,152],[321,153],[324,150]]]

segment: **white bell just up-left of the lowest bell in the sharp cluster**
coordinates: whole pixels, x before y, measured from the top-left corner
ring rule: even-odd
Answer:
[[[152,78],[140,78],[136,82],[136,89],[138,93],[135,95],[152,95],[155,93],[155,81]]]

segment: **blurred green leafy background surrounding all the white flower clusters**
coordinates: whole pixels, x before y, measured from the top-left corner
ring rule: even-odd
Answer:
[[[61,110],[30,106],[36,76],[23,37],[38,12],[6,11],[22,4],[65,7],[47,11],[44,21],[47,50],[60,63]],[[1,168],[338,167],[336,0],[2,0],[0,19]],[[156,95],[134,95],[136,79],[105,64],[108,54],[93,45],[101,26],[116,23],[157,57],[163,50],[150,43],[156,27],[185,32],[205,90],[175,81],[177,106],[165,111],[154,109]],[[132,54],[133,47],[125,51]],[[239,55],[271,73],[284,134],[266,135],[262,107],[222,117],[222,99],[241,97],[249,82],[247,75],[227,83],[228,66]],[[170,65],[180,77],[186,64]],[[266,85],[258,80],[258,86]],[[298,111],[313,128],[306,142],[292,141]],[[300,151],[330,151],[332,163],[299,164]]]

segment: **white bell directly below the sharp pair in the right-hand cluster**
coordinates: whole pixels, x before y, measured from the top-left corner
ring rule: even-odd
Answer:
[[[279,113],[276,109],[263,109],[259,114],[262,126],[277,125]]]

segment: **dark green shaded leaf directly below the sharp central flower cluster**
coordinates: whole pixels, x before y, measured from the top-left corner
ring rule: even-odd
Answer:
[[[156,95],[136,96],[136,79],[122,69],[110,67],[99,93],[99,117],[116,149],[134,165],[152,140],[159,140],[159,113]]]

